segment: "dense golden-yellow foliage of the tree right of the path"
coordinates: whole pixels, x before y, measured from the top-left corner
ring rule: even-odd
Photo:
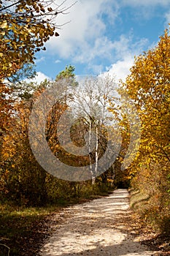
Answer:
[[[151,180],[155,167],[164,172],[170,168],[170,36],[168,31],[158,46],[137,57],[123,89],[134,99],[142,120],[142,138],[139,154],[131,165],[130,173],[141,170]],[[128,138],[127,124],[123,121],[124,136]],[[126,140],[124,140],[126,141]],[[144,167],[146,170],[144,171]],[[140,169],[141,168],[141,169]]]

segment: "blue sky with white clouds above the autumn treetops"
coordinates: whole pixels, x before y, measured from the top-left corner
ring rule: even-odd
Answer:
[[[157,45],[169,28],[170,0],[78,0],[56,23],[67,24],[36,54],[36,80],[55,78],[69,64],[76,75],[108,71],[124,80],[134,56]]]

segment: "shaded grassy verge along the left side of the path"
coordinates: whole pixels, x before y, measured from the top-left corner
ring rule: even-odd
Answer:
[[[93,193],[88,189],[81,197],[72,197],[69,200],[61,198],[56,205],[45,207],[24,208],[12,203],[0,205],[0,256],[7,256],[9,249],[9,256],[36,255],[43,239],[50,235],[47,223],[53,214],[62,211],[66,206],[107,196],[109,192],[111,191],[101,189]]]

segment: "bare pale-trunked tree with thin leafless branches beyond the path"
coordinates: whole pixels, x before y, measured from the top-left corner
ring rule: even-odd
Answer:
[[[84,78],[82,81],[80,79],[77,92],[74,94],[74,114],[77,118],[83,116],[86,132],[88,132],[86,143],[88,144],[92,184],[95,184],[96,176],[101,174],[101,170],[98,170],[98,161],[106,153],[107,147],[109,148],[110,138],[107,134],[107,127],[109,127],[110,118],[107,108],[109,99],[114,95],[114,89],[115,81],[109,76]]]

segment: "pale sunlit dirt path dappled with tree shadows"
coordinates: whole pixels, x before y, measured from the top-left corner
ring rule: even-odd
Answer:
[[[67,208],[71,215],[47,239],[39,255],[155,255],[135,241],[123,225],[130,212],[128,196],[127,190],[116,189],[108,197]]]

